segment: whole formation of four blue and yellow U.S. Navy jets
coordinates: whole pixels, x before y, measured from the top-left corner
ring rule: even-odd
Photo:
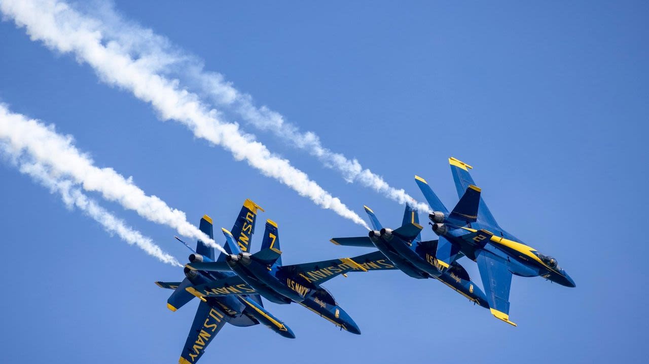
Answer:
[[[552,256],[543,255],[502,229],[485,205],[481,188],[474,183],[467,165],[448,159],[459,201],[450,210],[437,198],[425,179],[415,176],[432,212],[428,214],[437,240],[422,240],[419,214],[406,205],[400,227],[384,227],[374,211],[365,206],[373,230],[366,236],[332,238],[337,245],[368,247],[371,253],[353,258],[336,258],[304,264],[283,265],[278,225],[265,223],[262,247],[251,253],[252,234],[258,210],[250,199],[241,207],[230,231],[222,229],[224,249],[215,257],[213,247],[198,240],[184,267],[182,282],[156,282],[173,290],[167,308],[176,311],[191,299],[200,299],[190,334],[179,363],[196,363],[216,334],[230,323],[234,326],[263,324],[281,336],[295,338],[293,331],[268,312],[262,297],[276,304],[297,303],[335,326],[352,334],[360,328],[321,284],[350,272],[400,270],[411,278],[434,279],[487,308],[498,319],[509,320],[509,288],[512,275],[543,277],[563,286],[574,280]],[[214,239],[212,219],[203,216],[199,228]],[[478,265],[484,291],[458,263],[466,256]]]

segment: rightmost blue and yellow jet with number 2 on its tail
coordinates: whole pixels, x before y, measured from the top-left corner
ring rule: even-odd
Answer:
[[[480,196],[481,189],[469,174],[472,166],[453,157],[448,162],[459,196],[458,204],[450,212],[426,180],[415,176],[433,210],[428,218],[439,236],[435,259],[445,269],[450,269],[463,255],[477,262],[491,313],[516,326],[509,321],[511,275],[541,276],[567,287],[574,287],[574,280],[559,267],[555,258],[539,253],[500,228]]]

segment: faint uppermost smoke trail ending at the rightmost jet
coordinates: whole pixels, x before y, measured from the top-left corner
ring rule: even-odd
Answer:
[[[357,159],[349,159],[325,148],[312,131],[300,131],[295,124],[287,122],[280,113],[266,106],[257,108],[251,95],[238,91],[222,74],[204,71],[201,60],[174,47],[163,36],[154,34],[153,30],[123,19],[112,4],[93,4],[87,11],[101,19],[97,26],[104,38],[113,40],[121,52],[138,58],[138,62],[145,63],[150,69],[184,80],[187,85],[199,90],[201,95],[210,98],[216,106],[234,111],[245,122],[260,130],[271,131],[276,137],[316,157],[324,166],[337,170],[348,183],[360,183],[393,201],[410,203],[418,210],[430,209],[426,203],[415,201],[402,188],[391,187],[383,177],[369,168],[363,168]]]

